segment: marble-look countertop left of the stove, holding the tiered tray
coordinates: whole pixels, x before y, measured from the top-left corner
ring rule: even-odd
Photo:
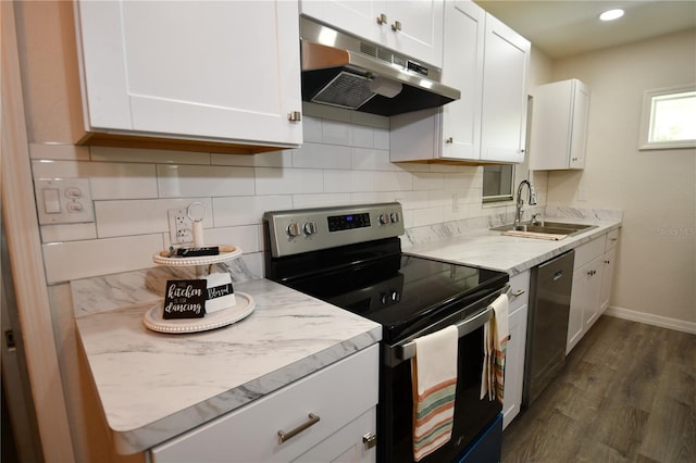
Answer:
[[[257,302],[236,324],[154,333],[142,315],[161,300],[142,281],[166,278],[158,273],[71,284],[78,337],[122,454],[151,448],[382,339],[378,324],[266,279],[235,284],[235,291]]]

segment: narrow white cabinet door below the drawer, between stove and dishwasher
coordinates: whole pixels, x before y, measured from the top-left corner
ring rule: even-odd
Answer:
[[[526,345],[527,304],[510,314],[510,340],[506,348],[505,396],[502,428],[505,429],[520,413],[522,387],[524,385],[524,351]]]

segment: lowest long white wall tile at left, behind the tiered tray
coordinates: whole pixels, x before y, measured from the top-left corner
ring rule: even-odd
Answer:
[[[153,266],[161,235],[139,235],[42,246],[48,284]]]

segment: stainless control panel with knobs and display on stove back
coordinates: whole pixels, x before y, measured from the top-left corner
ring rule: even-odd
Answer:
[[[271,211],[263,214],[274,258],[403,234],[398,202]]]

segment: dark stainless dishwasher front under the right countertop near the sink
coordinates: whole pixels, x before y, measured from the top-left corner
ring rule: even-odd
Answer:
[[[522,405],[527,408],[566,362],[568,315],[575,251],[532,268]]]

